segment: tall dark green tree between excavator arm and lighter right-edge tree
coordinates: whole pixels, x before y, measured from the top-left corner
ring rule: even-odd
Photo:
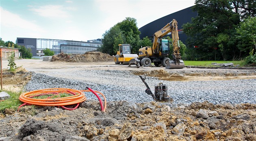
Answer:
[[[238,49],[233,46],[236,42],[233,36],[240,17],[233,11],[232,1],[196,0],[195,4],[193,10],[198,12],[198,16],[182,27],[189,36],[189,48],[196,47],[196,60],[230,60],[239,56]]]

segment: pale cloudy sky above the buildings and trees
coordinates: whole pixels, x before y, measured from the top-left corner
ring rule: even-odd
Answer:
[[[194,5],[195,0],[0,0],[0,38],[87,41],[126,17],[137,27]],[[171,21],[172,19],[170,19]]]

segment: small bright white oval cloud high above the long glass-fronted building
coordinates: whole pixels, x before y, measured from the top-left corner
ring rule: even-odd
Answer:
[[[67,13],[65,10],[67,7],[64,7],[62,5],[45,5],[40,6],[39,8],[33,8],[30,9],[31,11],[34,11],[35,13],[39,14],[43,17],[60,17],[60,18],[66,18],[69,17],[69,13]],[[68,9],[73,9],[68,7]]]

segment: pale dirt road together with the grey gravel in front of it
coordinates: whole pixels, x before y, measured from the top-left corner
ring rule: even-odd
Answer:
[[[115,65],[113,62],[44,62],[42,60],[17,60],[17,66],[23,66],[28,71],[35,72],[32,80],[25,86],[26,91],[44,88],[73,88],[84,90],[86,86],[102,92],[108,101],[127,100],[136,103],[152,101],[145,93],[145,85],[134,71],[152,71],[165,69],[163,67],[128,67]],[[4,65],[3,65],[4,66]],[[6,65],[7,66],[7,65]],[[165,69],[166,70],[166,69]],[[212,73],[232,75],[256,73],[255,70],[227,70],[183,68],[166,70],[169,73],[195,73],[193,81],[165,81],[156,77],[146,77],[145,80],[154,91],[154,85],[162,82],[168,86],[168,94],[174,103],[191,104],[192,102],[210,103],[256,103],[255,75],[250,79],[210,80],[201,81],[200,74]],[[181,74],[182,75],[182,74]],[[220,75],[221,76],[221,75]],[[196,81],[198,77],[198,80]],[[96,99],[86,94],[89,99]]]

